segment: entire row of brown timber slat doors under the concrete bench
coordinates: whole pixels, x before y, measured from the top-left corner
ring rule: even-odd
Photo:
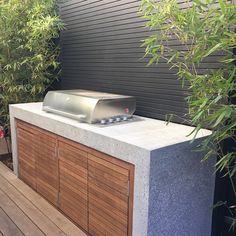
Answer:
[[[17,122],[21,178],[92,236],[131,236],[134,166]]]

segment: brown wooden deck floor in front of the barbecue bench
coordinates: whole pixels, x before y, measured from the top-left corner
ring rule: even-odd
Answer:
[[[0,236],[85,236],[0,162]]]

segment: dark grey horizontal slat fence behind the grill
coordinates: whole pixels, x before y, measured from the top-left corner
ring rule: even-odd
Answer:
[[[165,119],[175,114],[183,122],[187,113],[176,71],[164,63],[146,67],[141,40],[151,35],[140,18],[140,0],[69,0],[60,3],[66,30],[61,34],[62,89],[91,89],[133,95],[136,114]],[[182,4],[185,7],[184,4]],[[171,42],[180,47],[176,40]],[[215,68],[208,58],[202,70]]]

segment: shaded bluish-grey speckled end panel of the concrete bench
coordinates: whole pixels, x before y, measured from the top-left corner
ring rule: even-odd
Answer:
[[[148,236],[210,236],[215,158],[201,162],[198,141],[152,153]]]

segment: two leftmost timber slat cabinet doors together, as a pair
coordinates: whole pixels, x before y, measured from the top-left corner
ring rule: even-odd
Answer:
[[[57,206],[57,136],[18,120],[17,144],[19,177]]]

